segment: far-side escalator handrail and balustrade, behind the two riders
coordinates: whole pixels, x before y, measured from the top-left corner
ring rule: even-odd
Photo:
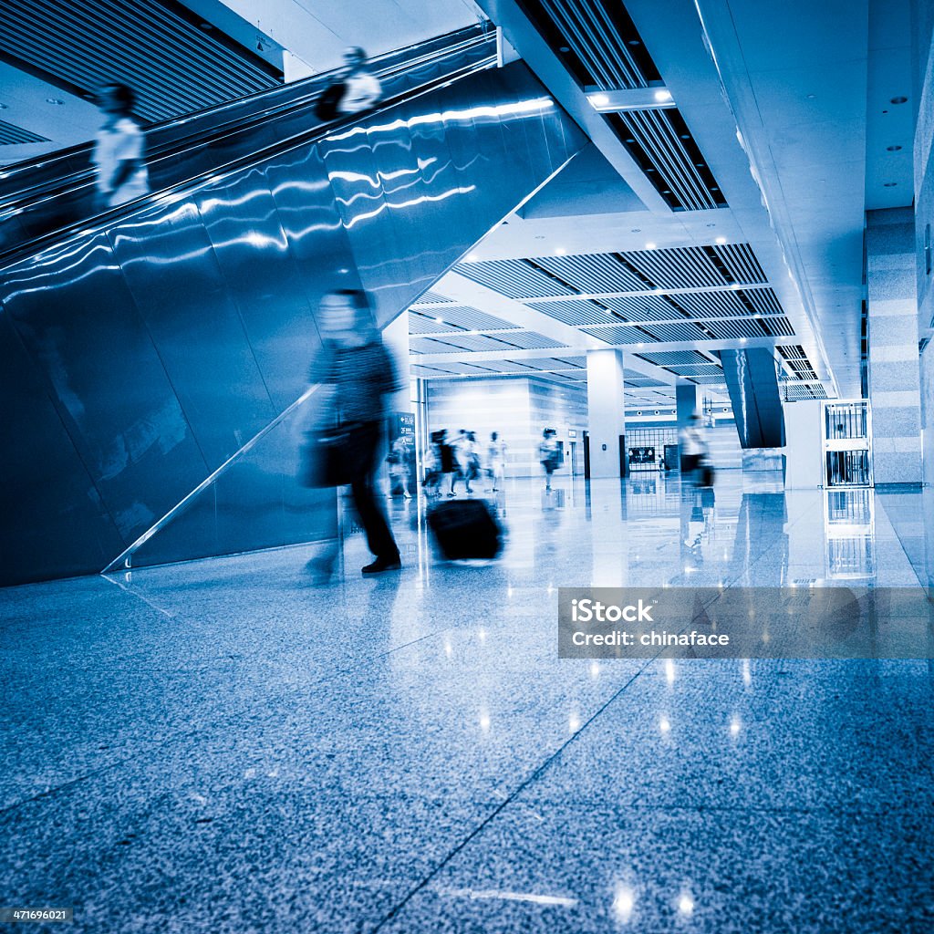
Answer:
[[[382,55],[376,56],[372,60],[371,64],[374,65],[373,71],[377,78],[392,78],[397,75],[404,74],[406,71],[417,67],[419,64],[427,64],[435,59],[443,58],[445,55],[451,54],[452,52],[459,50],[462,47],[467,47],[478,42],[488,41],[489,35],[490,34],[488,33],[488,30],[484,28],[483,24],[478,26],[469,26],[464,29],[455,30],[445,35],[435,36],[432,39],[427,39],[415,45],[407,46],[404,49],[385,52]],[[431,47],[438,46],[440,46],[440,48],[436,48],[430,51],[418,52],[418,50],[431,49]],[[299,106],[307,106],[308,103],[317,99],[318,94],[331,83],[334,76],[340,70],[341,69],[333,69],[333,71],[322,72],[321,74],[312,75],[308,78],[302,78],[301,80],[291,82],[290,84],[277,85],[274,88],[265,88],[262,91],[236,98],[233,101],[225,101],[223,104],[212,107],[205,107],[204,109],[194,111],[193,113],[183,114],[178,117],[169,118],[168,120],[161,120],[158,123],[150,123],[143,128],[144,134],[149,137],[150,135],[160,134],[165,130],[172,129],[177,126],[184,126],[187,123],[195,125],[198,122],[205,120],[206,117],[216,117],[217,115],[223,114],[225,112],[231,112],[233,114],[236,110],[240,110],[250,103],[255,103],[260,99],[269,99],[270,96],[287,96],[288,99],[286,101],[277,101],[276,104],[267,107],[265,110],[261,109],[255,112],[251,112],[248,114],[246,119],[259,120],[263,118],[270,118],[290,109],[295,109]],[[170,141],[168,144],[163,144],[162,146],[158,145],[157,142],[156,146],[154,146],[152,149],[149,149],[148,161],[153,157],[164,155],[166,151],[170,151],[173,154],[177,154],[178,152],[183,151],[182,149],[179,149],[179,144],[182,143],[187,144],[189,147],[203,145],[205,141],[212,139],[215,135],[220,134],[224,130],[229,130],[231,127],[238,126],[243,121],[244,118],[241,117],[237,119],[235,116],[233,116],[232,120],[228,120],[222,123],[212,123],[211,127],[206,132],[201,131],[200,134],[198,132],[194,132],[188,136],[177,137],[176,139]],[[54,152],[47,153],[42,156],[36,156],[33,159],[23,160],[22,162],[13,163],[12,165],[0,168],[0,185],[2,185],[2,183],[10,177],[14,177],[17,174],[29,172],[37,168],[43,168],[44,166],[51,163],[66,163],[67,161],[74,159],[85,152],[90,155],[93,146],[93,141],[78,143],[77,145],[66,149],[56,149]],[[10,211],[14,209],[16,205],[27,201],[29,192],[36,192],[35,198],[32,200],[40,200],[43,194],[48,194],[50,191],[62,191],[63,188],[71,187],[69,182],[77,183],[78,181],[83,180],[84,177],[92,176],[92,174],[93,170],[89,166],[83,169],[78,169],[77,171],[72,171],[69,174],[63,175],[61,177],[57,177],[52,181],[42,182],[39,184],[24,184],[20,189],[7,191],[7,193],[0,194],[0,198],[3,199],[0,201],[0,211]]]

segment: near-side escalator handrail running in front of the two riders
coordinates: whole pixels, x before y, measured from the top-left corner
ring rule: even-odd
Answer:
[[[386,98],[380,101],[379,106],[374,109],[363,111],[359,114],[351,114],[344,120],[333,120],[331,123],[318,124],[302,133],[277,140],[276,143],[264,149],[252,152],[246,156],[240,156],[233,159],[230,163],[219,165],[209,172],[182,179],[173,184],[170,188],[161,191],[150,191],[148,194],[134,199],[134,201],[128,201],[123,205],[110,208],[101,214],[95,215],[93,218],[78,220],[58,230],[51,231],[50,233],[43,233],[31,240],[18,244],[16,247],[0,252],[0,269],[7,268],[16,262],[20,262],[29,255],[34,255],[56,244],[64,243],[74,236],[88,236],[92,233],[100,233],[112,226],[115,220],[130,217],[139,211],[147,209],[156,202],[170,198],[177,200],[179,195],[187,195],[191,193],[191,191],[197,191],[205,185],[223,180],[236,172],[249,168],[256,163],[264,162],[280,153],[289,152],[292,149],[298,149],[301,146],[307,146],[317,142],[319,139],[324,139],[335,131],[346,130],[348,127],[353,127],[364,120],[370,120],[375,113],[380,113],[403,101],[413,100],[423,94],[432,92],[436,88],[450,84],[461,78],[466,78],[476,72],[488,70],[496,64],[498,64],[498,58],[494,52],[490,56],[468,64],[453,73],[439,78],[432,78],[432,80],[417,86],[417,88],[407,89],[404,93]]]

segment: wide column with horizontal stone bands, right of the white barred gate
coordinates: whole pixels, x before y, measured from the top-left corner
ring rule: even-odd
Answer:
[[[921,482],[921,391],[911,208],[866,215],[869,394],[876,484]]]

